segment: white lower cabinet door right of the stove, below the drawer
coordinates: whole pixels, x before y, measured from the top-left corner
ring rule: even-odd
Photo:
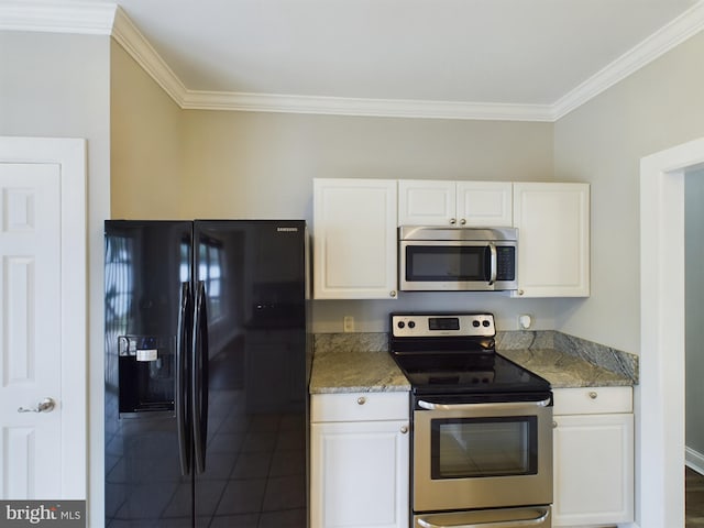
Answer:
[[[634,415],[556,416],[554,526],[634,519]]]

